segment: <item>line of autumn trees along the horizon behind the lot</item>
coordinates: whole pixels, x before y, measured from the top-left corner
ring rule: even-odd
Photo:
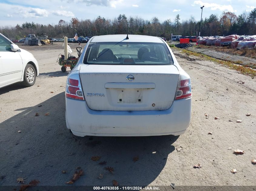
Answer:
[[[35,24],[34,22],[25,22],[22,25],[17,24],[15,27],[2,26],[0,32],[8,38],[17,39],[27,36],[27,34],[41,33],[48,34],[48,37],[60,38],[67,36],[72,38],[75,33],[79,36],[95,36],[106,34],[140,34],[165,37],[170,39],[173,35],[195,36],[201,29],[201,36],[227,36],[231,34],[254,35],[256,34],[256,8],[251,12],[244,11],[240,15],[233,12],[222,12],[220,16],[211,14],[209,18],[202,21],[196,21],[193,16],[189,19],[182,20],[177,14],[171,21],[160,22],[157,17],[151,20],[145,20],[139,16],[127,17],[125,14],[119,14],[117,18],[106,19],[98,16],[96,19],[72,18],[70,21],[60,20],[55,25]]]

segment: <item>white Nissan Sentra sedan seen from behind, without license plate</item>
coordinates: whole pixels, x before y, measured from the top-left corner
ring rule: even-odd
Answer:
[[[74,135],[181,135],[191,118],[191,82],[159,37],[92,37],[66,84]]]

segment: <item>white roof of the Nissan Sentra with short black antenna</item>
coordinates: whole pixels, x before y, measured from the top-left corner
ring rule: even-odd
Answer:
[[[127,34],[113,34],[113,35],[101,35],[92,38],[91,43],[96,42],[151,42],[151,43],[164,43],[161,38],[146,36],[146,35],[134,35],[128,34],[129,39],[126,39]]]

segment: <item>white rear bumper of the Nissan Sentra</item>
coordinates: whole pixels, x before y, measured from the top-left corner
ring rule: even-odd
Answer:
[[[191,97],[161,111],[96,111],[85,101],[66,98],[66,124],[77,136],[181,135],[191,118]]]

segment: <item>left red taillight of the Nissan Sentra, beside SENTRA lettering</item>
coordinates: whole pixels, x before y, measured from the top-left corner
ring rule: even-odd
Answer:
[[[66,85],[66,97],[78,99],[78,100],[85,100],[83,91],[81,88],[81,81],[79,78],[78,70],[72,72],[68,76],[67,85]]]

